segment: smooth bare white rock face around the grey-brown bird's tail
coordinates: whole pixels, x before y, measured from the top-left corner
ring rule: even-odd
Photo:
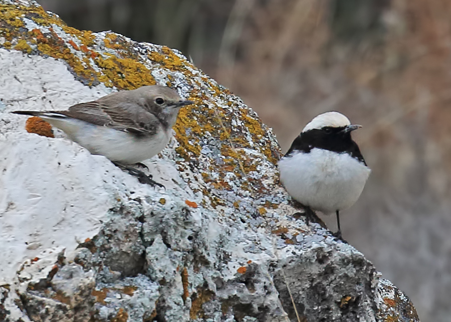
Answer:
[[[66,138],[27,133],[27,118],[9,113],[67,109],[111,89],[84,86],[64,62],[19,51],[0,49],[0,70],[0,282],[10,282],[25,260],[95,235],[119,196],[113,181],[141,185]]]

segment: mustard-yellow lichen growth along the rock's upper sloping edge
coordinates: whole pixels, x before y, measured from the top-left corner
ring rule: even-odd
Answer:
[[[38,27],[27,32],[22,28],[22,17],[32,19],[46,28]],[[66,26],[56,15],[34,6],[0,5],[0,20],[7,21],[0,28],[0,36],[6,40],[0,46],[11,48],[13,43],[16,50],[30,53],[33,49],[37,54],[65,61],[71,72],[85,84],[96,85],[101,82],[105,86],[115,86],[121,90],[155,84],[151,69],[146,67],[148,61],[140,61],[141,56],[136,53],[133,43],[120,35],[106,33],[102,39],[92,32],[78,31]],[[61,30],[65,33],[64,36],[60,35]],[[98,50],[97,45],[102,42],[108,48],[107,52]],[[241,104],[230,96],[229,90],[206,76],[194,75],[195,67],[168,47],[152,47],[145,57],[154,66],[165,70],[167,78],[163,82],[167,86],[172,87],[175,82],[175,74],[171,72],[180,71],[193,88],[187,99],[193,101],[194,105],[180,110],[174,126],[179,143],[176,152],[186,161],[191,161],[200,155],[200,140],[205,137],[213,138],[219,141],[224,158],[221,159],[222,162],[212,163],[202,173],[202,178],[209,183],[210,188],[231,189],[233,185],[229,179],[225,179],[225,174],[233,172],[235,177],[231,180],[240,181],[237,186],[261,193],[264,189],[260,186],[256,188],[259,180],[252,176],[243,180],[250,172],[257,171],[257,165],[260,164],[245,153],[243,148],[257,149],[273,163],[277,162],[278,152],[258,117],[252,110],[240,108]],[[229,106],[234,110],[231,111]],[[231,120],[237,117],[246,129],[232,126]],[[251,138],[246,131],[249,131]],[[219,173],[219,179],[211,179],[209,172]],[[209,195],[213,207],[224,204],[223,200],[209,191],[204,192]],[[234,206],[238,207],[239,204],[234,203]],[[258,211],[262,212],[261,209],[265,208]]]

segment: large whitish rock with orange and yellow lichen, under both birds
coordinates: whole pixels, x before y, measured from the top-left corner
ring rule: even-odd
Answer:
[[[271,130],[179,52],[0,0],[0,70],[0,319],[418,321],[363,254],[290,205]],[[165,189],[9,113],[151,84],[195,102],[146,161]]]

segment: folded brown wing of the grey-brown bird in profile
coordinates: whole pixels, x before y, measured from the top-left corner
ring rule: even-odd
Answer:
[[[59,111],[92,124],[114,128],[118,131],[134,134],[155,134],[158,119],[151,113],[127,104],[107,106],[99,102],[80,103],[71,106],[68,111]]]

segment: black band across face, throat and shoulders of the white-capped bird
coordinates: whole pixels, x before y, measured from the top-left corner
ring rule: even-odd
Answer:
[[[366,165],[357,143],[351,138],[351,133],[343,133],[344,129],[345,127],[324,127],[301,133],[293,141],[285,156],[290,157],[293,151],[310,153],[312,149],[320,148],[338,153],[349,153],[353,158]]]

